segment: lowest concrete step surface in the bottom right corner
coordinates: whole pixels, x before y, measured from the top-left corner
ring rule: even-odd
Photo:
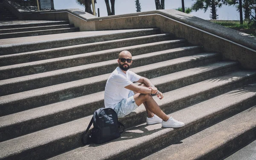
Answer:
[[[256,107],[256,106],[254,106]],[[256,159],[256,140],[236,151],[224,160],[255,160]]]

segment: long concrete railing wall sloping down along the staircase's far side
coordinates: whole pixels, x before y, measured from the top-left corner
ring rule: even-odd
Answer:
[[[10,3],[4,4],[15,9]],[[239,61],[242,68],[256,69],[256,37],[174,9],[108,17],[95,17],[80,9],[37,12],[16,9],[17,13],[22,20],[69,20],[80,31],[157,27],[163,33],[185,38],[193,45],[201,45],[206,52],[219,52],[224,60]]]

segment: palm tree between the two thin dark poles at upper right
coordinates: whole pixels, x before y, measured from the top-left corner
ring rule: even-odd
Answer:
[[[207,11],[208,8],[211,8],[210,18],[212,20],[218,19],[217,15],[217,7],[221,8],[222,4],[225,0],[196,0],[196,2],[192,5],[192,10],[197,12],[199,9]]]

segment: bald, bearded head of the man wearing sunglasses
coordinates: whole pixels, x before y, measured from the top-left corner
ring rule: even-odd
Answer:
[[[119,53],[119,56],[118,56],[118,64],[119,64],[119,67],[124,70],[124,71],[127,71],[131,64],[132,64],[132,59],[131,59],[131,53],[127,50],[124,50],[122,52]]]

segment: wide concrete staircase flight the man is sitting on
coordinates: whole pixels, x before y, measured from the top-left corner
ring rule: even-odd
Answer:
[[[159,29],[15,36],[0,46],[0,159],[221,159],[256,139],[256,71],[219,53]],[[120,138],[83,146],[122,50],[185,126],[146,125],[141,105]]]

